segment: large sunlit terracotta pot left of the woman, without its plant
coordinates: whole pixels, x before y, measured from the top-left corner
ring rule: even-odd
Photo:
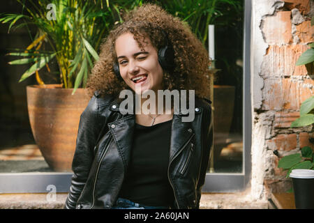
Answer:
[[[59,84],[27,86],[33,137],[54,171],[71,171],[80,114],[89,97],[84,89],[62,89]]]

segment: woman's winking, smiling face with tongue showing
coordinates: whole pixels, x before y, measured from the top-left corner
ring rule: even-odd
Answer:
[[[133,91],[141,87],[141,93],[146,90],[162,90],[163,69],[158,62],[158,53],[151,45],[149,38],[142,43],[140,49],[132,33],[124,33],[116,40],[116,53],[121,77]],[[136,92],[136,91],[135,91]],[[137,92],[139,93],[139,92]]]

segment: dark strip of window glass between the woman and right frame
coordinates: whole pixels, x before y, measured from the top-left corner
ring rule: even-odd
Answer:
[[[243,171],[244,2],[225,8],[214,26],[214,153],[209,173]],[[209,34],[210,36],[210,34]]]

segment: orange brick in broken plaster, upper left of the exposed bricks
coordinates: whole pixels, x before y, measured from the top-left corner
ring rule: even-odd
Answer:
[[[292,42],[291,12],[280,11],[264,19],[262,32],[269,45]]]

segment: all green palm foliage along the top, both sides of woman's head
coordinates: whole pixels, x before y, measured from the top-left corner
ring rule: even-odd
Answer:
[[[39,70],[57,59],[60,82],[64,88],[85,87],[94,61],[98,60],[100,41],[107,36],[114,24],[123,22],[122,12],[128,12],[151,2],[161,5],[172,15],[181,17],[190,24],[204,46],[208,38],[209,24],[230,25],[234,13],[239,15],[243,10],[242,0],[197,0],[197,1],[142,1],[142,0],[41,0],[22,1],[22,13],[0,15],[0,22],[8,23],[8,32],[24,26],[35,26],[37,33],[32,37],[32,43],[27,49],[9,53],[10,56],[20,56],[21,59],[10,64],[30,64],[20,82],[36,75],[38,84],[44,85]],[[55,20],[48,20],[47,14],[54,8]],[[223,20],[219,18],[223,17]],[[30,35],[31,36],[31,35]],[[45,44],[46,43],[46,44]],[[46,45],[50,46],[47,50]]]

